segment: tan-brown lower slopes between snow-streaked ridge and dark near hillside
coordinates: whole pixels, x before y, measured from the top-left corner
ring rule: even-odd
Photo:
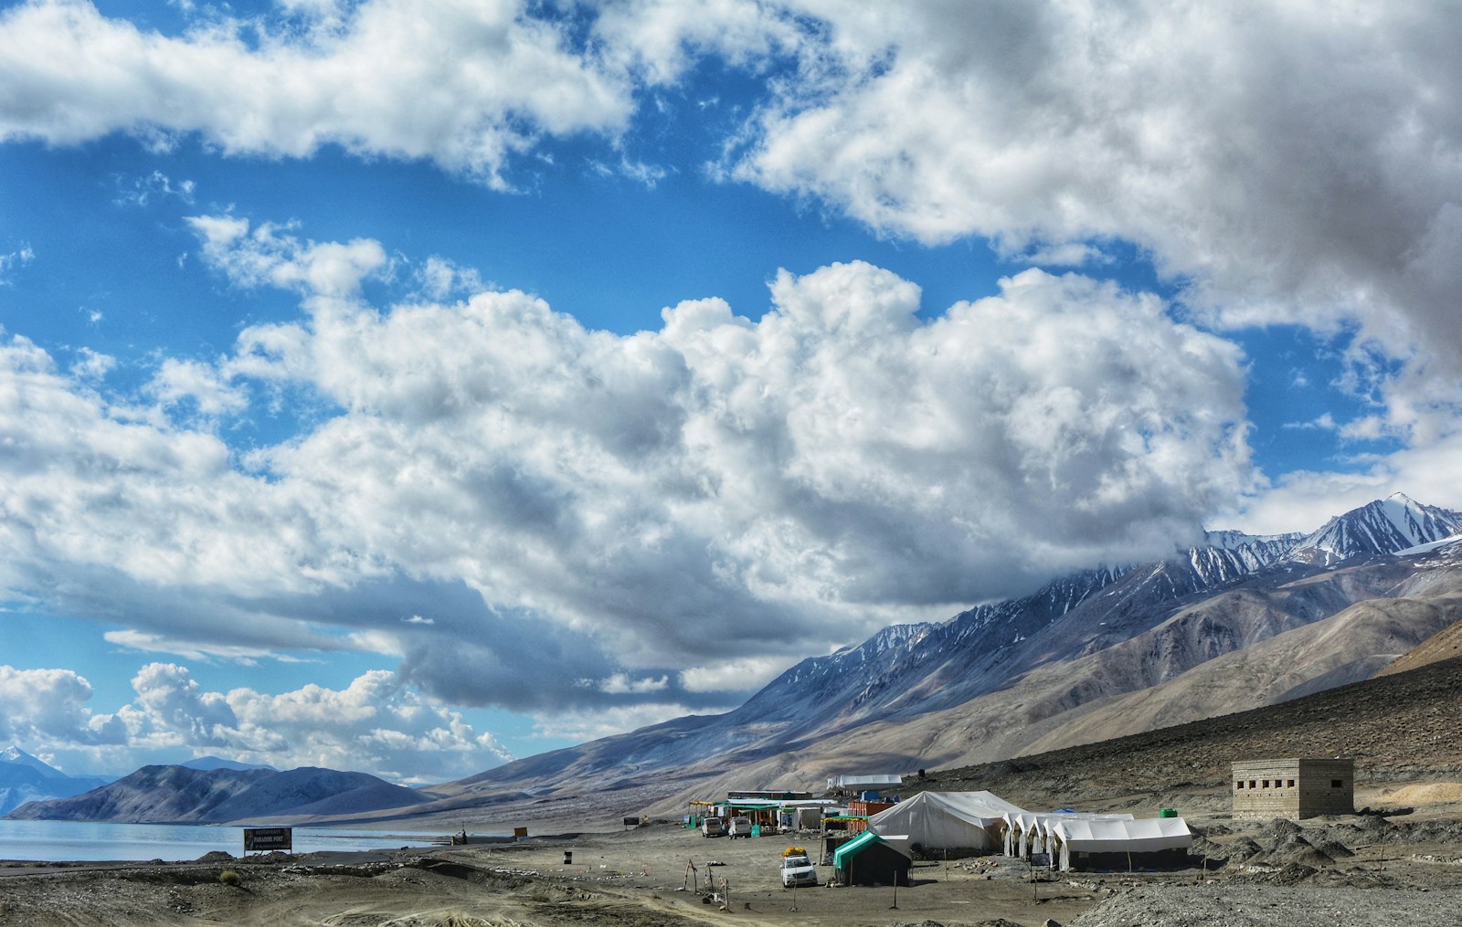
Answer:
[[[1395,583],[1389,572],[1379,575]],[[750,788],[749,782],[806,788],[839,771],[963,766],[1227,715],[1294,697],[1297,690],[1364,680],[1462,613],[1462,594],[1455,591],[1462,575],[1437,576],[1446,582],[1425,588],[1446,589],[1442,595],[1367,599],[1275,636],[1269,636],[1273,627],[1284,627],[1276,618],[1282,610],[1272,608],[1265,595],[1227,592],[1183,610],[1152,632],[1041,667],[1009,689],[965,705],[788,744],[772,757],[718,757],[716,768],[692,788],[703,797]],[[1304,580],[1303,586],[1333,582],[1341,580]],[[1221,637],[1230,640],[1222,648],[1253,643],[1224,654],[1212,643]],[[1183,671],[1203,657],[1212,658]],[[1170,673],[1173,677],[1162,681]]]

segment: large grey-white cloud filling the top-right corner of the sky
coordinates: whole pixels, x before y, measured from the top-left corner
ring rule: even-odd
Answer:
[[[1440,7],[795,6],[836,67],[779,85],[737,175],[925,241],[1135,241],[1230,323],[1358,313],[1458,360]]]

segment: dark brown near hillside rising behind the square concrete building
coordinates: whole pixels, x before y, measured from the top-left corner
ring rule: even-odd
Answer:
[[[905,791],[988,788],[1029,807],[1070,795],[1227,794],[1230,763],[1284,756],[1354,757],[1361,787],[1455,781],[1462,776],[1458,693],[1462,658],[1452,658],[1270,708],[939,771],[923,784],[906,781]]]

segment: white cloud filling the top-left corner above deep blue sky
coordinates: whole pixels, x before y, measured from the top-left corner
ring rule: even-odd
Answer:
[[[632,111],[618,77],[519,3],[291,9],[308,28],[209,10],[167,37],[86,0],[15,6],[0,15],[0,139],[200,133],[288,156],[335,143],[506,187],[509,158],[539,133],[614,133]]]

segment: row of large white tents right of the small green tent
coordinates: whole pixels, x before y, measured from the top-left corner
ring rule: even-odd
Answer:
[[[1003,851],[1044,855],[1060,870],[1151,866],[1193,847],[1181,817],[1032,813],[987,791],[918,792],[868,817],[868,830],[909,858],[915,851]]]

